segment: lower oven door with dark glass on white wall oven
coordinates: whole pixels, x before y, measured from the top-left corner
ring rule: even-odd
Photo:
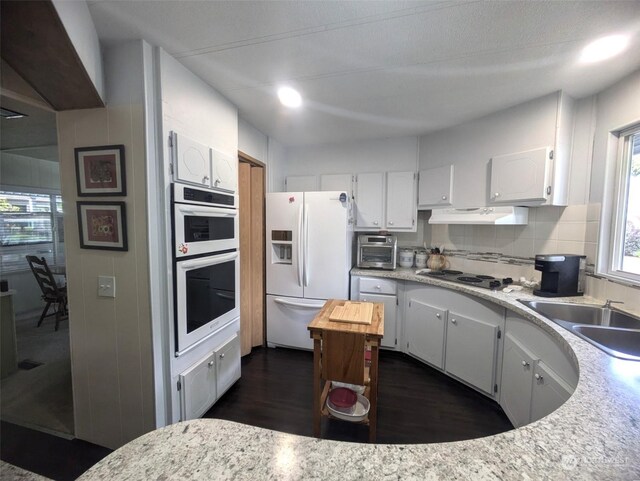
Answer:
[[[238,260],[232,251],[176,262],[176,355],[240,315]]]

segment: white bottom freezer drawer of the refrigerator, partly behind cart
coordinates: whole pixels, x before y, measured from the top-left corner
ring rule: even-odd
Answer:
[[[324,302],[324,299],[267,296],[267,345],[313,349],[307,326]]]

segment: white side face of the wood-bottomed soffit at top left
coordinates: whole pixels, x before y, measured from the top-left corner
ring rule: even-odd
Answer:
[[[98,95],[104,100],[102,53],[87,3],[83,0],[53,0],[53,6]]]

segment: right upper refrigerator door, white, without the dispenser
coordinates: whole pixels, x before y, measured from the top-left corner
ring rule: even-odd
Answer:
[[[353,231],[348,222],[348,195],[347,200],[341,202],[342,193],[304,194],[302,251],[307,299],[349,298]]]

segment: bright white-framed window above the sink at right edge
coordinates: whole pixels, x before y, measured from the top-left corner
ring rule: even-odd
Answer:
[[[607,274],[640,284],[640,125],[620,133]]]

